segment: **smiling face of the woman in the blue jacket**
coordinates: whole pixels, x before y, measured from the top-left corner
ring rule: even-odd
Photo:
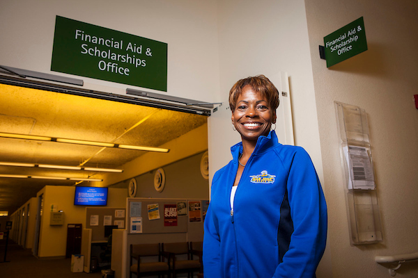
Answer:
[[[276,122],[276,112],[270,108],[268,99],[246,85],[238,96],[231,119],[242,141],[256,141],[268,135],[270,126]]]

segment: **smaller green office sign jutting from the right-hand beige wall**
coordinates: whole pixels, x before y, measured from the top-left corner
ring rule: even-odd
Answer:
[[[363,17],[324,37],[327,67],[367,50]]]

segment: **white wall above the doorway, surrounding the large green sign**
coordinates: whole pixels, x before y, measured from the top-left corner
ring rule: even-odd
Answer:
[[[56,15],[166,42],[167,95],[212,101],[219,90],[215,1],[1,1],[0,65],[84,79],[84,88],[125,95],[134,87],[50,71]]]

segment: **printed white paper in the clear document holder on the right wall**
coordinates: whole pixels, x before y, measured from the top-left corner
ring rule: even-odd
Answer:
[[[367,148],[348,145],[343,147],[343,152],[350,172],[348,189],[376,189]]]

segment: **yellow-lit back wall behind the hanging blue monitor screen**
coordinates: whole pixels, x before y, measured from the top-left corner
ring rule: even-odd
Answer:
[[[86,224],[86,206],[74,205],[74,186],[45,186],[38,192],[38,196],[44,194],[43,213],[40,223],[39,257],[65,256],[67,244],[67,225]],[[125,206],[127,190],[109,188],[107,206]],[[64,212],[64,224],[62,226],[50,226],[50,213],[52,204],[59,211]]]

